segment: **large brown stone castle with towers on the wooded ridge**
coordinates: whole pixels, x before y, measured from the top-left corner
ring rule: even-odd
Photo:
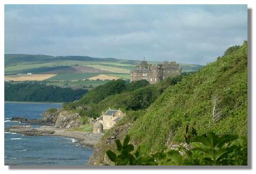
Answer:
[[[130,72],[130,81],[147,80],[150,84],[155,84],[165,80],[167,77],[181,75],[181,68],[176,62],[165,61],[162,64],[152,65],[143,60],[140,65],[135,67],[135,70]]]

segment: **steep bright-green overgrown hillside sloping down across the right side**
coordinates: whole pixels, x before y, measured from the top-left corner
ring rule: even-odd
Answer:
[[[147,109],[129,111],[105,133],[89,164],[105,163],[106,150],[116,151],[115,139],[126,134],[147,153],[168,149],[183,142],[187,124],[199,135],[247,134],[247,42],[167,87]]]

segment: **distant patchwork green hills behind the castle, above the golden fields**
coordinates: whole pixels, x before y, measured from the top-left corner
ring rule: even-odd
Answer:
[[[4,55],[5,75],[22,73],[116,73],[129,74],[139,60],[95,58],[89,56]],[[157,63],[157,62],[152,62]],[[202,65],[180,64],[183,72],[197,71]],[[74,76],[74,75],[73,75]]]

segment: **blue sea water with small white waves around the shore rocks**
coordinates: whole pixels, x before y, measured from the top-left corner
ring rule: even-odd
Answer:
[[[10,121],[12,117],[29,119],[42,118],[49,108],[59,108],[56,103],[13,103],[4,104],[4,126],[28,125]],[[38,127],[40,125],[33,125]],[[76,143],[73,138],[61,136],[24,136],[4,133],[4,163],[6,166],[53,165],[83,166],[89,160],[92,149]]]

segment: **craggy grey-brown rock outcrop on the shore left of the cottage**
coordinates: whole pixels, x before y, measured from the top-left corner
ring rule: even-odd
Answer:
[[[55,118],[55,117],[54,117]],[[56,128],[73,128],[79,127],[81,124],[80,116],[78,113],[70,111],[61,111],[55,123]]]

